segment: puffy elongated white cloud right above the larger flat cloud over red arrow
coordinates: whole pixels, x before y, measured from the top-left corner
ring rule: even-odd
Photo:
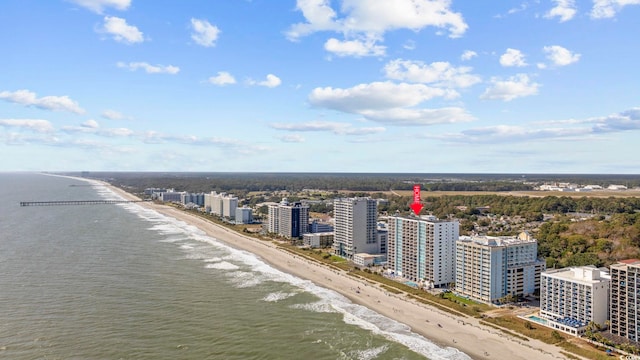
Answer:
[[[384,67],[389,79],[454,88],[466,88],[481,81],[479,76],[470,73],[471,70],[466,66],[456,68],[448,62],[425,64],[402,59],[390,61]]]

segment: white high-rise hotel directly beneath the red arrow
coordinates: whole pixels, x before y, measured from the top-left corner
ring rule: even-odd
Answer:
[[[433,288],[455,281],[460,224],[435,216],[387,218],[387,267],[395,275]]]

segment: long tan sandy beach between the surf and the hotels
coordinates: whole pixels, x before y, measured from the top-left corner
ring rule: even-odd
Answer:
[[[109,188],[126,199],[137,200],[133,195],[117,187],[109,186]],[[337,271],[278,249],[272,242],[244,236],[170,206],[150,202],[140,204],[196,226],[209,236],[233,247],[256,254],[281,271],[339,292],[354,303],[404,323],[415,333],[421,334],[436,344],[457,348],[473,359],[567,359],[560,353],[559,347],[535,339],[523,341],[483,326],[476,318],[456,317],[435,307],[407,299],[402,294],[391,294],[377,285],[355,279],[344,271]]]

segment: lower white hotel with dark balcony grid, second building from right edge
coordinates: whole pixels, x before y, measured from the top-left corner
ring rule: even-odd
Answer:
[[[540,317],[550,328],[581,336],[589,322],[605,326],[609,319],[611,277],[593,265],[543,271]]]

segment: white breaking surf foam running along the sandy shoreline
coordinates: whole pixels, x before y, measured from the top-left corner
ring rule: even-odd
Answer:
[[[96,191],[104,198],[112,198],[113,196],[113,199],[121,199],[117,194],[108,190],[102,190],[105,190],[105,188],[96,187]],[[234,249],[215,238],[207,236],[203,231],[192,225],[164,216],[135,203],[122,204],[121,206],[141,219],[153,223],[154,225],[149,229],[165,235],[167,238],[181,238],[183,241],[188,240],[189,244],[192,244],[193,241],[208,244],[207,254],[203,252],[203,248],[197,246],[191,246],[191,248],[183,247],[183,250],[192,252],[190,258],[199,259],[208,263],[206,267],[215,269],[216,271],[225,271],[231,283],[238,288],[253,287],[264,281],[289,283],[314,294],[320,299],[317,302],[298,304],[292,307],[314,312],[342,313],[346,323],[367,329],[375,334],[380,334],[390,340],[407,346],[411,350],[429,359],[470,359],[468,355],[458,349],[440,347],[425,337],[411,332],[410,328],[402,323],[382,316],[366,307],[354,304],[333,290],[319,287],[311,281],[303,280],[279,271],[266,264],[258,256],[247,251]],[[212,255],[212,253],[216,255]],[[265,301],[278,301],[279,296],[282,295],[270,294],[265,297]],[[373,348],[359,352],[355,357],[358,359],[374,359],[385,351],[385,348]]]

